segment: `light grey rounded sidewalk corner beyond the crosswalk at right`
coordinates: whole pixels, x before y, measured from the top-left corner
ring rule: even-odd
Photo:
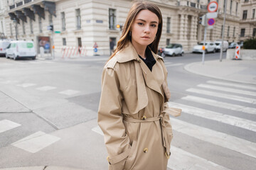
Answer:
[[[193,62],[184,69],[204,77],[256,85],[256,60],[213,60]]]

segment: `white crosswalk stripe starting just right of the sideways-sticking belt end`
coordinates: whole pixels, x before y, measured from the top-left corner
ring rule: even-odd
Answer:
[[[241,111],[243,113],[249,113],[249,114],[254,114],[254,115],[256,114],[256,108],[249,108],[249,107],[245,107],[245,106],[215,101],[215,100],[211,100],[208,98],[201,98],[201,97],[197,97],[197,96],[185,96],[181,99],[186,100],[186,101],[202,103],[203,105],[210,105],[210,106],[215,106],[218,108],[226,108],[226,109],[230,109],[232,111]]]

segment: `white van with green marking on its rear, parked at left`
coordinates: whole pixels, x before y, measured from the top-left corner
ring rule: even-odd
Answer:
[[[36,50],[33,41],[12,41],[6,49],[6,58],[31,58],[36,59]]]

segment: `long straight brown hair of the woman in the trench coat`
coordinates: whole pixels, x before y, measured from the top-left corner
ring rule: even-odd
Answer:
[[[117,48],[114,50],[114,53],[110,56],[110,59],[117,52],[119,52],[120,50],[123,50],[124,47],[127,45],[127,43],[132,40],[132,37],[129,35],[129,31],[131,30],[132,23],[134,23],[134,19],[136,18],[138,13],[145,9],[151,11],[152,13],[155,13],[156,16],[159,18],[159,25],[158,25],[158,30],[156,33],[156,38],[153,42],[151,42],[150,45],[148,45],[154,53],[157,53],[159,41],[161,38],[161,31],[163,28],[163,18],[161,16],[161,11],[155,4],[152,4],[151,2],[136,1],[132,5],[132,8],[130,8],[130,10],[129,10],[127,20],[124,23],[124,30],[122,31],[121,38],[117,42]]]

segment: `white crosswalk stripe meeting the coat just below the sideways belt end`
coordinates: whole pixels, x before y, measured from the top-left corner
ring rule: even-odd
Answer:
[[[243,128],[246,130],[252,130],[253,132],[256,132],[256,122],[252,120],[237,118],[232,115],[225,115],[225,114],[217,113],[213,111],[207,111],[202,108],[195,108],[195,107],[183,105],[180,103],[174,103],[174,102],[168,102],[168,103],[169,103],[169,107],[171,108],[181,108],[183,113],[196,115],[201,118],[215,120],[228,125],[236,126],[238,128]]]

